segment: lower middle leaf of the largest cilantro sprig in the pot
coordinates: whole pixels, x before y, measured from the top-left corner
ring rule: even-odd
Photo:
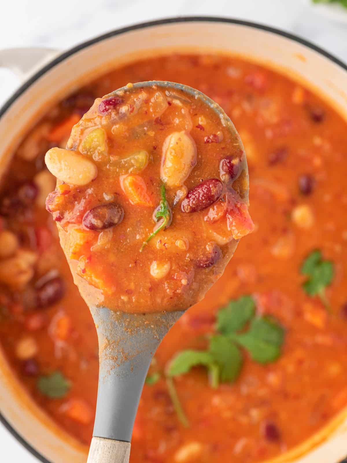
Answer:
[[[222,334],[212,336],[209,352],[219,366],[221,382],[234,382],[240,374],[242,355],[240,349]],[[216,387],[216,385],[215,385]]]

